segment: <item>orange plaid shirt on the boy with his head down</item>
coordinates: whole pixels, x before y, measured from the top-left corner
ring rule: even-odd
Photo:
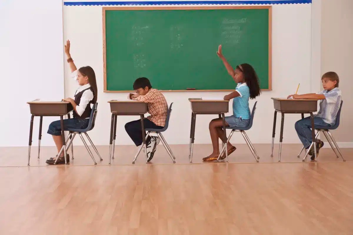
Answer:
[[[128,95],[130,98],[130,94]],[[157,89],[150,89],[145,95],[134,95],[133,100],[147,103],[147,112],[151,115],[147,118],[157,126],[165,126],[168,112],[168,104],[164,95]]]

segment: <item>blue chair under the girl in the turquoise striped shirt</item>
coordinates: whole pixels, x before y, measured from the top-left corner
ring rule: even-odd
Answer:
[[[248,137],[248,136],[246,135],[246,133],[245,133],[245,131],[249,130],[249,129],[251,128],[251,126],[252,126],[252,122],[253,122],[254,115],[255,115],[256,104],[257,104],[257,101],[255,102],[254,106],[252,107],[252,112],[251,112],[251,116],[250,116],[250,122],[249,122],[249,125],[248,125],[248,126],[246,126],[246,127],[233,127],[233,128],[230,127],[230,126],[227,126],[226,129],[231,129],[231,130],[232,130],[232,131],[231,131],[231,134],[229,134],[229,136],[228,136],[228,138],[227,138],[227,144],[228,144],[228,142],[231,140],[234,131],[240,132],[240,133],[243,135],[244,140],[245,140],[247,146],[249,147],[249,149],[250,149],[252,155],[254,155],[256,162],[259,162],[258,159],[260,159],[260,157],[259,157],[259,155],[257,154],[257,152],[256,152],[256,150],[255,150],[255,148],[254,148],[254,146],[253,146],[252,143],[250,142],[249,137]],[[223,146],[223,148],[222,148],[222,150],[221,150],[221,153],[220,153],[220,155],[218,156],[217,161],[218,161],[218,160],[220,159],[220,157],[223,155],[223,153],[225,152],[225,150],[226,150],[226,145]],[[227,162],[228,162],[228,154],[226,154],[226,160],[227,160]]]

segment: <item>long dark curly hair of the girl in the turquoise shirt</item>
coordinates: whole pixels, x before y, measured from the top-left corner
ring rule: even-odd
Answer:
[[[249,87],[250,99],[255,99],[260,95],[260,85],[254,68],[250,64],[240,64],[237,68],[244,74],[244,81]]]

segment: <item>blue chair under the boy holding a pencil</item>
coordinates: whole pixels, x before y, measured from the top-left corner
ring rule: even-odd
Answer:
[[[341,155],[343,161],[345,162],[346,160],[343,158],[342,152],[341,152],[340,148],[338,147],[338,145],[337,145],[337,143],[336,143],[336,141],[335,141],[333,135],[332,135],[331,132],[330,132],[330,130],[335,130],[335,129],[337,129],[338,126],[340,125],[340,116],[341,116],[342,104],[343,104],[343,100],[341,101],[340,109],[339,109],[338,112],[337,112],[337,118],[336,118],[336,124],[335,124],[335,125],[333,125],[333,126],[315,126],[315,130],[317,130],[315,139],[319,136],[320,132],[322,131],[323,134],[324,134],[324,136],[326,137],[327,141],[329,142],[329,144],[330,144],[332,150],[333,150],[334,153],[336,154],[336,157],[338,158],[339,156],[338,156],[338,154],[336,153],[333,144],[335,145],[335,147],[336,147],[338,153]],[[333,144],[332,144],[332,143],[333,143]],[[304,159],[302,160],[303,162],[305,161],[306,156],[309,154],[309,150],[310,150],[310,148],[311,148],[312,145],[313,145],[313,143],[311,143],[311,145],[310,145],[308,151],[306,152],[306,154],[305,154],[305,156],[304,156]],[[300,153],[298,154],[297,157],[300,157],[300,154],[301,154],[301,152],[302,152],[303,150],[304,150],[304,146],[303,146],[303,148],[301,148]],[[315,161],[316,161],[316,159],[315,159]]]

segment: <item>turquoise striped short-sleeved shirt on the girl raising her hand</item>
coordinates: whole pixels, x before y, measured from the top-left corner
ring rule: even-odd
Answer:
[[[250,119],[250,109],[249,109],[249,98],[250,89],[244,83],[238,83],[237,88],[235,88],[240,96],[233,99],[233,115],[237,118]]]

